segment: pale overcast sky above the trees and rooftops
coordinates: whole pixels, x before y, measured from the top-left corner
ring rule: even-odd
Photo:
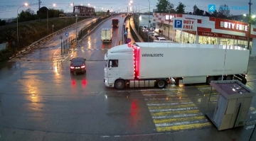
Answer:
[[[157,0],[135,0],[137,4],[137,9],[140,9],[140,11],[149,11],[149,1],[150,1],[150,11],[152,9],[156,9],[156,3]],[[193,2],[191,0],[180,0],[185,6],[185,11],[193,11],[193,6],[196,4],[199,9],[202,9],[204,11],[208,10],[208,4],[215,4],[217,7],[222,4],[227,4],[228,6],[248,6],[249,1],[245,0],[194,0]],[[172,4],[176,7],[178,5],[178,1],[170,0]],[[16,17],[17,15],[17,9],[19,6],[22,6],[23,4],[28,3],[32,4],[31,6],[28,6],[33,11],[38,10],[38,0],[0,0],[0,18],[11,18]],[[127,6],[129,6],[129,0],[41,0],[41,7],[42,6],[53,6],[53,4],[56,4],[56,9],[63,9],[64,11],[71,12],[73,11],[72,6],[70,6],[71,3],[74,3],[75,5],[86,5],[90,4],[90,6],[95,6],[96,11],[101,11],[101,9],[113,9],[113,11],[122,11],[126,10]],[[252,14],[256,14],[256,0],[252,0]],[[18,9],[18,13],[20,13],[21,10],[26,10],[28,7],[21,7]],[[249,11],[244,10],[230,10],[230,13],[233,15],[240,15],[243,13],[249,13]]]

